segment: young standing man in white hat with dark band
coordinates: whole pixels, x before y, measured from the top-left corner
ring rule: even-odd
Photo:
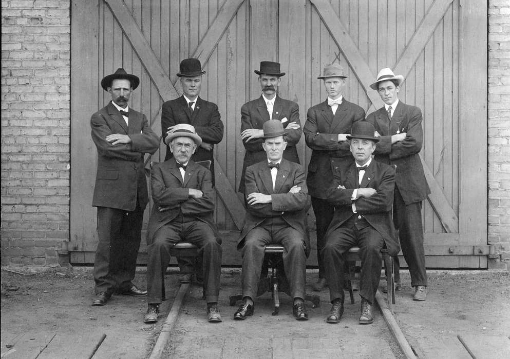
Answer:
[[[379,92],[384,107],[367,116],[380,143],[375,150],[379,162],[396,165],[393,221],[399,230],[402,253],[409,266],[414,300],[427,299],[427,272],[423,248],[422,202],[430,193],[420,151],[423,144],[422,111],[399,101],[404,76],[382,69],[370,87]],[[395,289],[400,287],[399,258],[394,258]]]

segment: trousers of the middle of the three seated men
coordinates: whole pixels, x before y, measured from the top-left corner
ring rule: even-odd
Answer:
[[[289,280],[291,296],[305,299],[306,253],[303,233],[290,227],[281,217],[268,218],[244,237],[241,249],[241,285],[243,297],[257,296],[258,282],[268,244],[284,247],[284,269]]]

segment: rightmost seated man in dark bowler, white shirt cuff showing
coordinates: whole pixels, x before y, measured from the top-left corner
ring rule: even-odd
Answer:
[[[372,159],[379,141],[372,124],[356,122],[347,138],[355,163],[337,170],[328,189],[328,201],[335,206],[335,213],[322,251],[333,305],[326,321],[338,323],[344,312],[344,253],[358,246],[362,268],[360,324],[371,324],[381,277],[381,249],[386,245],[390,255],[400,250],[391,220],[395,171]]]

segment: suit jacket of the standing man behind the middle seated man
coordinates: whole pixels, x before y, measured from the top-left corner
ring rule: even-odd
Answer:
[[[282,122],[284,128],[287,127],[291,122],[295,122],[299,126],[299,106],[288,99],[283,99],[276,96],[273,106],[273,116],[269,118],[268,107],[264,101],[262,95],[253,101],[247,102],[241,107],[241,132],[250,129],[262,129],[263,124],[270,119],[282,119],[287,118],[287,121]],[[297,155],[296,144],[299,142],[303,134],[303,129],[299,127],[295,130],[288,130],[285,135],[285,141],[287,141],[287,148],[284,151],[284,158],[289,161],[299,163],[299,157]],[[244,161],[242,164],[241,182],[239,184],[239,192],[244,193],[244,173],[248,166],[254,165],[267,159],[266,151],[262,148],[263,138],[251,139],[249,142],[243,141],[244,145]]]

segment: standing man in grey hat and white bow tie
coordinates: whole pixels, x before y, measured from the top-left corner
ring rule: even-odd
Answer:
[[[348,102],[343,94],[347,76],[337,64],[324,67],[324,87],[328,93],[326,101],[311,107],[307,113],[304,127],[305,140],[312,149],[308,165],[307,185],[312,196],[317,233],[317,262],[319,277],[314,285],[315,291],[323,291],[326,286],[326,274],[320,252],[324,248],[325,234],[333,218],[334,207],[327,201],[327,188],[333,182],[333,172],[352,163],[347,134],[356,121],[365,118],[365,111]]]

